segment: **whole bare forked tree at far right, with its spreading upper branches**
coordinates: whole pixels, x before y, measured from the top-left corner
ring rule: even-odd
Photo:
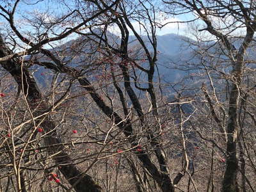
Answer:
[[[203,88],[203,92],[211,108],[212,116],[216,123],[219,124],[221,132],[225,134],[225,129],[227,130],[227,166],[223,178],[222,191],[239,191],[237,184],[237,173],[239,172],[237,143],[243,132],[243,126],[239,125],[239,115],[241,115],[239,108],[241,102],[244,102],[243,92],[246,92],[244,90],[244,83],[246,83],[244,75],[246,74],[246,65],[250,60],[250,58],[246,57],[246,51],[248,53],[248,47],[252,44],[255,33],[255,3],[253,1],[163,2],[170,6],[171,9],[168,12],[171,14],[193,13],[193,19],[204,22],[202,28],[198,29],[198,31],[210,33],[212,40],[216,40],[217,46],[220,47],[221,59],[223,60],[223,57],[225,57],[225,65],[227,65],[227,62],[230,63],[231,69],[226,73],[221,74],[221,71],[217,70],[220,76],[225,76],[230,85],[228,90],[227,124],[222,122],[220,117],[216,115],[212,101],[205,88]],[[237,36],[236,32],[243,33],[243,35]],[[235,38],[239,38],[239,41],[236,41]],[[209,48],[207,51],[210,55]],[[202,58],[205,57],[202,55]],[[214,62],[220,62],[220,60],[217,61],[216,59]],[[209,68],[208,65],[207,70],[216,70],[216,67]],[[246,89],[250,90],[250,88],[252,86],[248,86]],[[223,125],[226,126],[225,129]]]

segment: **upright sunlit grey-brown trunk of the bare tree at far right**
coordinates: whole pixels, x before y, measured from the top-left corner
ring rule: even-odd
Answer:
[[[227,122],[227,166],[222,183],[222,192],[239,192],[237,184],[238,159],[237,159],[237,134],[238,134],[238,108],[241,81],[244,68],[244,54],[252,42],[254,29],[248,26],[243,44],[239,47],[236,60],[233,61],[232,90],[230,92]]]

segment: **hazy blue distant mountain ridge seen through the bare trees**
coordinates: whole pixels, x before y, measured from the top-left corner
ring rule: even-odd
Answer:
[[[97,31],[95,31],[97,33]],[[100,31],[99,31],[100,32]],[[111,42],[113,47],[120,44],[120,37],[116,36],[112,33],[107,33],[108,40]],[[91,36],[93,38],[93,36]],[[147,36],[142,36],[143,40],[146,42],[146,45],[148,46],[148,49],[150,51],[152,50],[152,47],[150,47],[150,43]],[[93,44],[90,43],[92,41],[86,41],[84,36],[81,36],[77,38],[76,40],[70,40],[69,42],[61,45],[60,47],[55,47],[54,50],[51,51],[60,51],[65,48],[64,53],[66,54],[65,57],[62,57],[61,59],[63,61],[68,61],[67,65],[73,66],[73,67],[86,67],[87,63],[90,63],[90,60],[95,60],[95,58],[90,56],[86,56],[87,53],[93,52],[97,49],[97,46],[93,47]],[[136,40],[135,36],[130,36],[129,38],[129,47],[140,47],[140,44],[138,40]],[[200,84],[202,82],[207,83],[209,79],[204,75],[198,76],[198,74],[203,72],[204,67],[202,65],[199,65],[202,62],[210,63],[220,63],[220,68],[222,72],[229,72],[231,70],[230,67],[230,61],[227,58],[226,55],[217,55],[216,52],[221,52],[222,49],[220,45],[214,44],[215,42],[205,42],[203,47],[210,47],[207,52],[210,52],[212,56],[216,55],[216,58],[207,58],[205,56],[203,60],[202,58],[195,56],[195,51],[198,50],[198,47],[191,44],[196,44],[196,42],[186,36],[181,36],[177,34],[168,34],[163,36],[157,36],[157,51],[159,51],[159,54],[157,54],[157,66],[156,66],[156,72],[155,72],[155,81],[158,82],[159,80],[161,83],[166,85],[166,89],[172,92],[172,86],[175,85],[175,83],[180,83],[180,85],[175,85],[176,88],[185,87],[186,88],[197,88],[200,89]],[[241,45],[241,40],[234,39],[233,40],[234,45],[239,47]],[[202,43],[203,44],[203,43]],[[72,49],[76,50],[76,52],[83,52],[83,54],[80,54],[79,56],[76,56],[75,58],[72,58],[72,55],[67,56],[72,52]],[[79,48],[83,47],[83,48]],[[93,47],[93,50],[92,50]],[[252,60],[256,59],[255,47],[252,47],[248,49],[248,54],[246,54],[246,58],[250,58]],[[90,55],[90,54],[88,54]],[[142,54],[141,54],[142,55]],[[94,55],[95,57],[95,55]],[[145,56],[144,56],[145,57]],[[72,58],[72,60],[71,60]],[[215,61],[214,61],[215,60]],[[226,61],[225,61],[226,60]],[[191,63],[194,63],[195,65],[191,65]],[[207,65],[208,65],[207,64]],[[248,64],[248,66],[255,68],[254,63]],[[147,66],[147,60],[145,61],[144,66]],[[201,69],[199,69],[201,68]],[[97,72],[95,72],[97,73]],[[43,67],[39,67],[37,71],[34,73],[36,79],[45,86],[47,84],[47,81],[49,82],[49,78],[47,77],[48,74],[52,74],[51,70],[47,70]],[[212,74],[211,74],[212,75]],[[143,74],[142,76],[143,77]],[[142,79],[144,82],[147,82],[147,79]],[[214,80],[216,83],[221,84],[222,81],[219,79]],[[145,85],[146,86],[146,85]]]

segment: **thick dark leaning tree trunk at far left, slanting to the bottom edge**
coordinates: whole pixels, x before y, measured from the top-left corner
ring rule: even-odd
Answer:
[[[3,38],[0,35],[0,57],[7,56],[8,54],[13,54],[13,52],[4,44]],[[29,71],[26,70],[26,68],[22,68],[21,70],[20,60],[13,58],[12,60],[1,62],[1,65],[5,70],[12,74],[20,88],[22,88],[23,84],[24,95],[27,95],[28,102],[31,106],[36,100],[42,99],[42,94],[36,84],[35,79],[31,76]],[[47,107],[47,104],[44,103],[43,105]],[[49,132],[54,130],[56,126],[54,125],[54,122],[47,117],[46,120],[42,122],[42,127],[44,128],[45,132]],[[61,141],[55,137],[55,134],[56,132],[52,131],[49,136],[46,136],[45,143],[49,145],[61,144]],[[58,147],[50,147],[48,152],[51,155],[59,152],[58,155],[53,157],[53,159],[55,160],[56,164],[60,164],[59,169],[70,185],[74,185],[79,177],[83,177],[83,179],[81,179],[78,184],[74,186],[74,189],[77,192],[101,191],[100,186],[95,184],[90,175],[83,175],[83,173],[79,171],[74,164],[72,164],[72,159],[65,152],[63,146],[58,145]]]

